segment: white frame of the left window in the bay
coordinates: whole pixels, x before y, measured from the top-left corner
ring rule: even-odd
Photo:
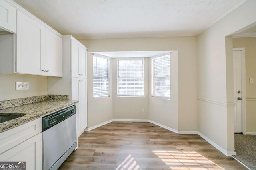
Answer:
[[[93,69],[93,60],[94,60],[94,57],[99,57],[99,58],[103,58],[103,59],[107,59],[108,60],[108,64],[107,64],[107,68],[108,68],[108,76],[94,76],[94,69]],[[100,54],[96,54],[96,53],[93,53],[93,58],[92,58],[92,98],[93,99],[98,99],[98,98],[109,98],[110,97],[110,61],[111,61],[111,58],[110,57],[107,57],[107,56],[104,56],[104,55],[100,55]],[[106,96],[98,96],[98,97],[94,97],[94,77],[101,77],[101,78],[108,78],[108,95]]]

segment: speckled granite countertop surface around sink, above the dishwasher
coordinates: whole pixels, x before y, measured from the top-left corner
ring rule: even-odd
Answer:
[[[36,102],[32,104],[26,104],[22,106],[10,107],[7,109],[0,110],[0,115],[20,115],[26,114],[22,117],[12,119],[0,123],[0,133],[6,129],[15,127],[27,121],[39,118],[47,115],[64,107],[72,106],[78,103],[78,101],[72,100],[46,100],[42,102]]]

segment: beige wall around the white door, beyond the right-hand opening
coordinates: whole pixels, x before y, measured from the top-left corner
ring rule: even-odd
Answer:
[[[246,68],[246,132],[256,133],[256,38],[233,38],[233,47],[245,48]]]

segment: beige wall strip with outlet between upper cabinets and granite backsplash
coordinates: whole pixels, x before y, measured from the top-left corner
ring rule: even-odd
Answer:
[[[29,82],[29,90],[15,90],[15,82]],[[0,101],[46,95],[47,77],[18,74],[0,74]]]

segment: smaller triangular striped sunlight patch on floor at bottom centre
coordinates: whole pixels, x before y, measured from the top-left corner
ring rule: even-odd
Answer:
[[[131,154],[116,168],[116,170],[141,170]]]

